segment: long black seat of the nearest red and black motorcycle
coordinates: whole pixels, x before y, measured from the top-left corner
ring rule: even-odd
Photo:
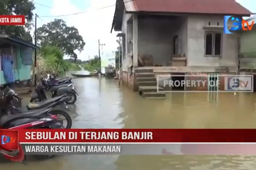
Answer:
[[[22,118],[32,118],[32,117],[38,117],[44,113],[47,113],[48,111],[52,110],[50,109],[35,109],[32,111],[26,111],[24,113],[19,113],[15,115],[4,115],[0,118],[0,126],[4,126],[6,123],[15,120],[15,119],[22,119]]]

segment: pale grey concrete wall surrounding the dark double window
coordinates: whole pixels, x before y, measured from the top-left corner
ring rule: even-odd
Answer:
[[[230,66],[238,61],[238,34],[222,34],[222,57],[204,56],[204,26],[223,26],[224,16],[191,15],[188,17],[188,66]],[[219,30],[223,33],[223,29]]]

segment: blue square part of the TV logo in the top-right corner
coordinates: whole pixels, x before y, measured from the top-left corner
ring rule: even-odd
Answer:
[[[231,18],[232,27],[228,29],[228,20]],[[234,34],[230,31],[238,31],[242,29],[242,19],[235,16],[224,16],[224,34]]]

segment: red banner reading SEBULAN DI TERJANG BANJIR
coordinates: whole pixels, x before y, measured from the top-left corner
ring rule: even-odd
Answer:
[[[256,142],[256,129],[26,129],[19,142]],[[8,133],[4,134],[8,135]]]

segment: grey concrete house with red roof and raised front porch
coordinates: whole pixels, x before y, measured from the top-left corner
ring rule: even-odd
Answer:
[[[154,84],[146,73],[236,74],[239,37],[223,34],[224,16],[251,14],[235,0],[116,0],[111,32],[122,32],[123,84]]]

